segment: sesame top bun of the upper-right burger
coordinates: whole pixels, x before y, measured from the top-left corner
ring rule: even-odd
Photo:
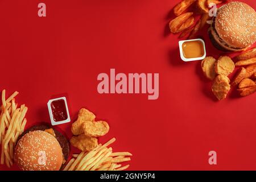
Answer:
[[[256,41],[255,10],[243,2],[230,2],[218,10],[215,29],[229,46],[249,47]]]

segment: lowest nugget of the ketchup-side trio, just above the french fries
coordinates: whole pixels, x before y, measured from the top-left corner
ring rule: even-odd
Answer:
[[[72,146],[79,148],[81,151],[91,151],[98,146],[98,139],[95,137],[87,137],[85,134],[74,136],[70,139]]]

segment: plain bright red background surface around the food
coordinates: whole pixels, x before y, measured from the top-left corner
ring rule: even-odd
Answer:
[[[81,107],[110,124],[114,151],[133,153],[130,170],[256,169],[255,94],[233,90],[216,101],[200,61],[184,63],[178,35],[170,35],[171,9],[179,1],[0,2],[0,89],[28,106],[26,127],[49,122],[47,101],[68,96],[75,121]],[[243,1],[255,8],[255,1]],[[207,55],[218,57],[207,27],[200,33]],[[159,73],[159,98],[146,94],[98,94],[97,75]],[[71,123],[56,128],[71,137]],[[217,165],[208,152],[217,152]],[[74,151],[74,150],[72,150]],[[0,169],[7,169],[0,166]],[[11,169],[16,169],[13,167]]]

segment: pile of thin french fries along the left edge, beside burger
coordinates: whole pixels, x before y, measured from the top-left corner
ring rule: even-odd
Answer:
[[[27,119],[27,107],[23,104],[18,107],[15,103],[15,96],[18,92],[5,98],[6,90],[2,91],[2,105],[0,115],[0,144],[1,144],[1,164],[7,167],[13,166],[14,148],[20,134],[23,133]]]

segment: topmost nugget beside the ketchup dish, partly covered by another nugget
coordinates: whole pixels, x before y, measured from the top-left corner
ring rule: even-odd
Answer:
[[[80,109],[77,121],[72,123],[71,131],[73,135],[80,135],[84,133],[82,129],[82,123],[85,121],[94,121],[95,115],[87,109]]]

